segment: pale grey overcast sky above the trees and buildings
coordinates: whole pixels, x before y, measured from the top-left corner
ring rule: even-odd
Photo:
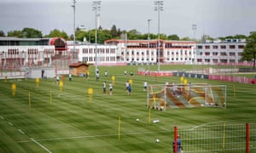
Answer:
[[[92,0],[76,0],[76,26],[95,29]],[[73,34],[73,0],[1,0],[0,30],[22,30],[32,27],[44,35],[54,29]],[[160,12],[160,33],[195,37],[203,33],[211,37],[249,35],[256,31],[256,0],[164,0]],[[113,25],[120,30],[137,29],[158,32],[158,12],[154,0],[102,0],[100,25],[108,29]]]

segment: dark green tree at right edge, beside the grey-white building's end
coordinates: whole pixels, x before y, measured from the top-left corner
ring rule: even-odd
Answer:
[[[241,60],[253,61],[253,69],[256,63],[256,31],[250,33],[247,37],[247,44],[242,52]]]

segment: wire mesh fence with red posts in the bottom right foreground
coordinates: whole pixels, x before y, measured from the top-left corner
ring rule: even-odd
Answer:
[[[182,140],[183,152],[256,152],[256,123],[174,127],[174,138]]]

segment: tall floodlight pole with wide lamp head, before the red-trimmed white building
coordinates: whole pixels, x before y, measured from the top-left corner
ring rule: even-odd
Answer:
[[[163,11],[164,1],[154,1],[154,10],[158,11],[158,41],[157,41],[157,53],[158,53],[158,71],[160,71],[160,11]]]

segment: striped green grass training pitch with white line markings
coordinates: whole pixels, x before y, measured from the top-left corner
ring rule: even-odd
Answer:
[[[89,80],[73,77],[69,82],[66,77],[62,91],[54,79],[40,80],[38,87],[35,79],[1,80],[0,152],[172,152],[174,126],[255,122],[256,86],[253,84],[188,78],[189,82],[226,85],[227,109],[150,110],[149,124],[143,82],[178,83],[180,78],[137,76],[134,65],[106,66],[99,67],[101,78],[96,82],[92,76],[94,69],[90,67]],[[105,70],[108,77],[103,76]],[[130,71],[135,75],[131,77],[132,95],[127,95],[125,82],[130,79]],[[113,95],[109,95],[112,76],[115,77]],[[104,81],[107,94],[102,94]],[[12,95],[12,83],[16,84],[15,95]],[[93,88],[91,100],[88,88]],[[160,122],[153,123],[156,119]],[[155,143],[155,139],[160,139],[160,143]]]

